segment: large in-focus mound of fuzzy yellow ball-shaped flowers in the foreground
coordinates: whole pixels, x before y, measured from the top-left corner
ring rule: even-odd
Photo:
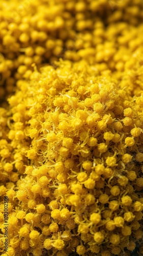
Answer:
[[[8,99],[0,155],[9,180],[1,186],[9,249],[34,256],[132,251],[143,235],[142,92],[130,96],[84,60],[56,65],[35,69]]]

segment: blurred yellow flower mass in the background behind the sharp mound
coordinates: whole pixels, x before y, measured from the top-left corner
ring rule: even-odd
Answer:
[[[17,80],[30,78],[33,63],[54,65],[60,57],[119,74],[138,68],[142,15],[142,0],[2,0],[0,98],[15,91]]]

